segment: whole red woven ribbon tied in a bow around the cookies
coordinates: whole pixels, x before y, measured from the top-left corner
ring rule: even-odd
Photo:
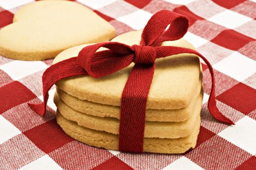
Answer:
[[[166,27],[169,25],[167,31]],[[222,115],[216,106],[215,77],[211,64],[199,52],[173,46],[160,46],[164,41],[183,37],[188,29],[188,18],[162,10],[153,15],[143,30],[140,45],[128,46],[118,42],[104,42],[83,48],[77,57],[56,63],[42,76],[44,102],[30,107],[41,116],[46,111],[49,89],[59,80],[78,75],[94,78],[110,75],[135,63],[122,93],[119,126],[119,150],[143,152],[146,101],[153,79],[155,60],[180,53],[196,54],[208,66],[212,76],[212,88],[208,108],[212,116],[221,122],[234,124]],[[109,50],[98,51],[100,47]]]

